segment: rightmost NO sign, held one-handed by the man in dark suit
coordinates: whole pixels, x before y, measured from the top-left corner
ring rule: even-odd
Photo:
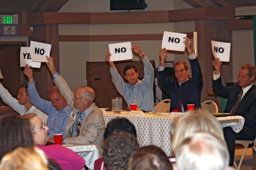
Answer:
[[[215,58],[219,58],[222,62],[229,62],[231,43],[223,43],[211,40],[212,52]]]

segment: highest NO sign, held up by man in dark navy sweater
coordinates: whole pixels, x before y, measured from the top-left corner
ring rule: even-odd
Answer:
[[[185,51],[185,45],[183,43],[186,40],[183,37],[187,37],[187,34],[181,34],[176,32],[167,32],[163,34],[162,49],[173,51]]]

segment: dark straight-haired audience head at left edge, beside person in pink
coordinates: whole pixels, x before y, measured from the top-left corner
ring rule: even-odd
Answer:
[[[17,147],[33,145],[33,136],[27,121],[15,115],[0,120],[0,159]]]

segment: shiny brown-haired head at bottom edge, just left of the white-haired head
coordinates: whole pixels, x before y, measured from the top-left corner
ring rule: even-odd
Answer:
[[[154,145],[137,149],[128,162],[128,170],[172,170],[162,149]]]

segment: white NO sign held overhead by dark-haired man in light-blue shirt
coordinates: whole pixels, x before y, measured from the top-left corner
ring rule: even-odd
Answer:
[[[108,44],[108,49],[111,53],[111,62],[132,59],[131,42]]]

